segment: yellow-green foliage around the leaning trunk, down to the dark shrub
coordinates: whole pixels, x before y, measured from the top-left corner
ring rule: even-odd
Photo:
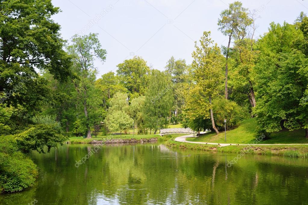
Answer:
[[[210,110],[212,97],[220,93],[223,82],[223,56],[217,44],[213,44],[210,32],[204,32],[200,39],[201,46],[193,51],[193,63],[190,70],[191,83],[185,95],[185,106],[183,110],[184,124],[193,129],[204,130],[209,128],[209,122],[204,120],[212,119]],[[195,121],[195,122],[193,122]],[[212,119],[214,123],[214,119]],[[213,124],[212,123],[212,124]],[[213,125],[213,129],[215,125]]]

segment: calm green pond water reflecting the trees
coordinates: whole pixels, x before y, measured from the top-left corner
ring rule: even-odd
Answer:
[[[64,145],[30,156],[35,186],[0,195],[0,204],[308,204],[305,159],[245,155],[228,167],[235,154],[159,143]]]

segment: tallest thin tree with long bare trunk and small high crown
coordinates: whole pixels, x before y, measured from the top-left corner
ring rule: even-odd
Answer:
[[[252,23],[246,8],[242,7],[241,2],[229,4],[229,9],[223,10],[218,19],[218,30],[225,36],[229,36],[228,46],[225,51],[225,98],[228,99],[228,57],[232,37],[240,39],[245,37],[247,27]]]

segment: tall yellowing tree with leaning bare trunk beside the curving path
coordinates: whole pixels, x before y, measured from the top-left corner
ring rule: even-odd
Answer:
[[[219,93],[219,87],[222,83],[221,68],[223,56],[217,44],[213,44],[210,34],[211,32],[206,31],[203,33],[200,39],[200,47],[195,42],[196,50],[192,53],[193,79],[196,83],[196,92],[198,92],[201,98],[206,99],[203,103],[208,105],[206,108],[210,110],[212,127],[219,134],[215,126],[212,99]]]

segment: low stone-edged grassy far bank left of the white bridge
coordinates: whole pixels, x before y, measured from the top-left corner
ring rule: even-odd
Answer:
[[[120,135],[105,135],[105,136],[97,136],[97,137],[92,137],[91,139],[87,139],[87,138],[83,138],[83,137],[70,137],[69,138],[69,142],[70,143],[90,143],[93,140],[96,141],[106,141],[107,139],[136,139],[136,140],[140,140],[140,139],[152,139],[152,138],[162,138],[164,140],[167,140],[169,138],[175,138],[175,137],[180,137],[186,134],[170,134],[170,135],[166,135],[164,137],[160,137],[160,135],[157,134],[135,134],[134,136],[132,134],[122,134],[122,136]]]

